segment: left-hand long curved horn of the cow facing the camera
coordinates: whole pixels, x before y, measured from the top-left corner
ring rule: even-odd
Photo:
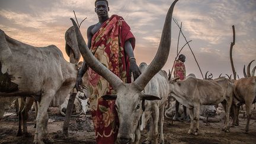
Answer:
[[[78,28],[78,25],[75,23],[73,18],[71,18],[71,21],[73,23],[73,26],[75,28],[76,33],[76,39],[78,41],[78,47],[81,52],[82,57],[84,58],[85,62],[91,67],[95,72],[97,72],[99,75],[103,76],[110,85],[117,90],[120,84],[123,83],[121,79],[115,75],[113,72],[111,72],[109,69],[107,69],[101,62],[99,62],[94,55],[90,52],[88,49],[87,43],[85,43],[84,38],[82,37],[81,31]]]

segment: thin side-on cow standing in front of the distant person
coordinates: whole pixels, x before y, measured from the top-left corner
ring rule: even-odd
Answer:
[[[217,78],[210,81],[193,77],[183,81],[171,79],[169,88],[171,96],[190,110],[191,123],[188,134],[199,134],[200,105],[216,105],[219,103],[225,105],[226,121],[223,130],[229,132],[229,110],[233,100],[233,84],[229,79]],[[196,132],[194,132],[195,120]]]

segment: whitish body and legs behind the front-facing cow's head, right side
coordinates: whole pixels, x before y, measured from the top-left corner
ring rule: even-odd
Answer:
[[[141,72],[144,72],[148,67],[146,63],[140,63],[139,69]],[[149,81],[146,85],[145,94],[155,95],[156,97],[161,98],[158,101],[145,101],[145,111],[142,114],[142,125],[140,130],[145,128],[146,123],[149,118],[152,117],[150,121],[149,135],[146,139],[146,142],[158,143],[158,132],[160,136],[160,143],[164,143],[164,134],[163,134],[163,124],[164,124],[164,110],[165,102],[169,94],[169,84],[168,77],[165,71],[159,71],[155,76]],[[159,126],[159,127],[158,127]],[[159,128],[159,129],[158,129]]]

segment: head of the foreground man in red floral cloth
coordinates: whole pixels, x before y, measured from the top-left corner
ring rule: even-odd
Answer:
[[[98,17],[108,17],[108,1],[107,0],[96,0],[95,1],[95,12]]]

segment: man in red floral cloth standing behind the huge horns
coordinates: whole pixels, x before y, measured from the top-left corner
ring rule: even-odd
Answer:
[[[133,54],[135,37],[122,17],[119,15],[108,17],[109,10],[107,0],[95,1],[98,23],[88,27],[88,47],[104,66],[124,82],[129,83],[131,73],[135,79],[141,73]],[[116,94],[116,91],[98,73],[87,68],[85,62],[79,71],[76,87],[82,84],[83,76],[89,89],[89,105],[96,141],[97,143],[114,143],[119,130],[115,101],[105,101],[101,97],[106,94]]]

